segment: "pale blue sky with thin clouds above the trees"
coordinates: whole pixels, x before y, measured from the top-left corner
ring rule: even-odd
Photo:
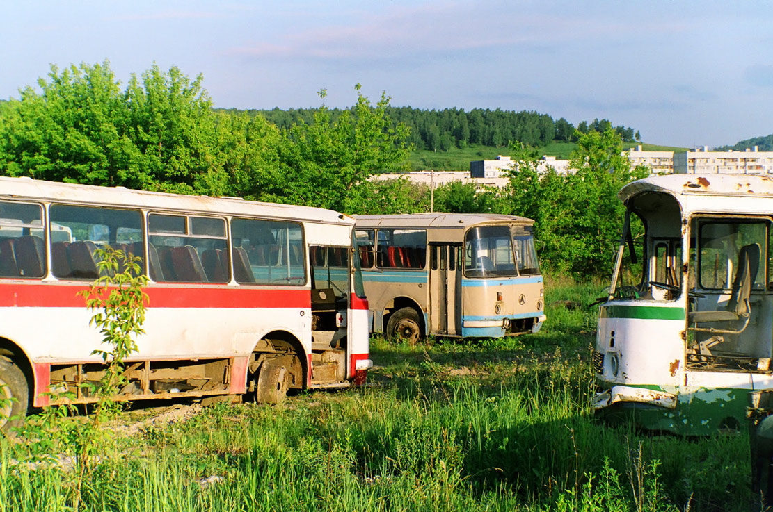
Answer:
[[[716,147],[773,134],[773,2],[0,0],[0,99],[55,65],[154,63],[215,107],[533,110]]]

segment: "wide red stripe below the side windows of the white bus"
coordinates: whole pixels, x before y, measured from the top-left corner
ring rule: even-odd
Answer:
[[[0,307],[86,307],[77,293],[82,285],[55,283],[0,284]],[[312,307],[312,292],[252,287],[145,288],[148,307]]]

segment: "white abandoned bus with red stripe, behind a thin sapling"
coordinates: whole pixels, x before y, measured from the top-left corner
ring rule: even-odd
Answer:
[[[83,384],[102,375],[101,335],[77,292],[106,245],[140,256],[149,277],[118,399],[278,402],[291,388],[363,383],[353,229],[324,209],[0,178],[0,384],[16,398],[0,415],[48,405],[51,392],[94,400]],[[335,280],[309,257],[318,251],[338,256]]]

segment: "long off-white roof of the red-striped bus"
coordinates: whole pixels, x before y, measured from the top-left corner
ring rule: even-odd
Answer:
[[[210,215],[250,215],[325,224],[353,225],[354,219],[339,212],[310,206],[278,205],[242,198],[214,198],[147,192],[124,187],[100,187],[0,176],[0,199],[56,201],[82,205],[116,205],[128,208],[200,212]]]

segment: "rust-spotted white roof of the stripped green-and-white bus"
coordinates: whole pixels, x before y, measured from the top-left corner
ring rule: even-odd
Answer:
[[[683,215],[692,212],[773,212],[773,177],[767,175],[665,175],[633,181],[622,202],[642,192],[672,195]]]

